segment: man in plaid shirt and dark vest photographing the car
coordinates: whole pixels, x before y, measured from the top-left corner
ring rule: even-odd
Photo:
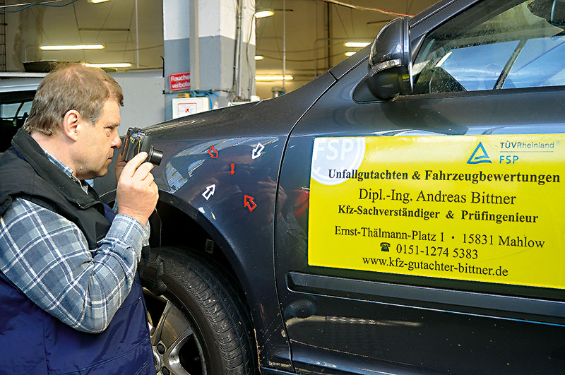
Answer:
[[[155,374],[137,263],[158,192],[146,153],[107,174],[123,94],[100,69],[49,73],[0,159],[0,372]]]

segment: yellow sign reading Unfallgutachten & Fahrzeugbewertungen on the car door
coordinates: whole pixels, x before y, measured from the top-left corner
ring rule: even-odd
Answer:
[[[308,263],[565,288],[565,135],[316,138]]]

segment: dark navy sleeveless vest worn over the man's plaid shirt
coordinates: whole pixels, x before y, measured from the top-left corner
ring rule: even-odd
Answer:
[[[0,216],[15,198],[25,198],[74,222],[97,249],[110,222],[94,189],[85,194],[25,131],[12,145],[0,159]],[[0,273],[0,347],[0,372],[155,374],[138,275],[106,330],[83,333],[40,309]]]

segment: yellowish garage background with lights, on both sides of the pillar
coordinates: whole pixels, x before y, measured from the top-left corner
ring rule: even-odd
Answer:
[[[25,59],[125,61],[143,69],[162,66],[162,1],[138,0],[137,12],[135,0],[112,0],[102,4],[91,4],[87,0],[72,3],[71,0],[8,0],[5,1],[8,7],[4,9],[17,11],[23,6],[10,5],[30,2],[44,2],[52,6],[30,6],[16,13],[6,13],[8,70],[13,70],[14,66],[21,69],[21,62]],[[270,9],[275,13],[271,17],[256,20],[256,54],[263,56],[263,60],[256,61],[256,74],[282,74],[285,56],[285,73],[294,77],[293,81],[286,83],[285,88],[287,91],[293,90],[345,59],[345,52],[358,50],[345,47],[345,42],[371,42],[383,25],[397,17],[383,11],[416,14],[434,2],[257,0],[256,9]],[[68,5],[63,6],[65,4]],[[285,35],[283,29],[286,30]],[[38,44],[78,43],[100,43],[105,44],[106,48],[80,52],[40,52],[38,49]],[[249,61],[249,64],[252,63]],[[270,97],[270,89],[281,84],[257,83],[257,93],[261,97]]]

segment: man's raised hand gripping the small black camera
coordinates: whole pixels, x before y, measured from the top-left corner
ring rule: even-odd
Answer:
[[[121,170],[118,189],[118,213],[145,223],[157,205],[159,190],[153,181],[153,164],[143,162],[147,153],[138,153]]]

